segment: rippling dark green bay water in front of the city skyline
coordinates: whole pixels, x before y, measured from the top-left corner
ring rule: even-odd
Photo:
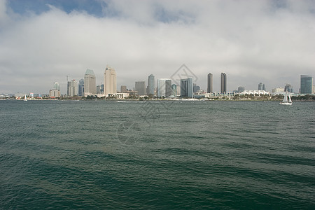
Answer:
[[[0,209],[314,209],[314,105],[0,101]]]

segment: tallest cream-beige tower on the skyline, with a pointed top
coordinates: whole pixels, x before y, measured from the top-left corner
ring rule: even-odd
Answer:
[[[117,93],[116,84],[116,71],[109,65],[106,65],[104,72],[104,94],[115,94]]]

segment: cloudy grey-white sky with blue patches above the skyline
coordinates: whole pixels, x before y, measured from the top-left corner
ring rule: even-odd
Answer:
[[[134,87],[182,66],[207,90],[267,90],[315,73],[315,1],[0,0],[0,93],[48,93],[106,64]]]

